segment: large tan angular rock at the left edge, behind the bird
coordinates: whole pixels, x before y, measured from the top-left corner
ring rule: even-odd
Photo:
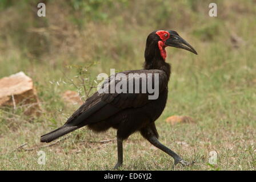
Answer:
[[[0,106],[24,106],[26,115],[39,114],[39,100],[33,81],[19,72],[0,79]]]

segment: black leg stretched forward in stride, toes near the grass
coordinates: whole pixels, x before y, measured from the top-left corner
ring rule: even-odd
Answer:
[[[152,128],[151,128],[152,127]],[[159,148],[160,150],[166,152],[174,159],[174,164],[181,163],[182,165],[189,165],[189,162],[186,162],[183,160],[178,154],[176,154],[174,151],[170,150],[170,148],[167,148],[162,143],[159,142],[157,139],[157,131],[155,129],[155,125],[151,125],[149,127],[146,127],[141,130],[141,134],[143,137],[145,137],[151,144],[153,144],[155,147]]]

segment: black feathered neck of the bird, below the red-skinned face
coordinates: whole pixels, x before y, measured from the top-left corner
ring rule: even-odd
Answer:
[[[144,69],[159,69],[166,73],[167,77],[171,75],[171,65],[161,56],[161,52],[157,44],[148,44],[145,49],[145,64]]]

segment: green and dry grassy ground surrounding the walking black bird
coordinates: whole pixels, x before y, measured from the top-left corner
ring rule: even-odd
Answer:
[[[208,16],[207,1],[165,1],[165,6],[147,1],[147,8],[144,1],[132,2],[104,5],[101,11],[107,18],[84,21],[80,11],[74,13],[70,5],[58,1],[46,5],[46,20],[33,18],[30,11],[21,14],[19,9],[30,8],[26,3],[5,6],[1,16],[6,18],[0,22],[1,29],[7,27],[0,32],[0,77],[19,71],[32,77],[42,114],[29,117],[23,115],[22,107],[0,108],[1,170],[111,169],[117,160],[112,129],[95,134],[82,128],[49,147],[39,142],[42,134],[61,126],[78,107],[61,98],[74,86],[50,81],[64,79],[62,72],[74,77],[75,71],[66,65],[96,60],[93,77],[109,74],[110,68],[140,69],[146,36],[154,29],[178,31],[198,52],[195,56],[167,48],[166,61],[172,65],[169,99],[156,121],[161,142],[195,164],[173,167],[170,156],[135,133],[124,142],[121,170],[255,170],[255,2],[215,1],[217,18]],[[170,115],[189,115],[196,123],[171,126],[165,122]],[[23,143],[27,143],[25,150],[17,148]],[[35,150],[26,151],[29,148]],[[45,165],[37,163],[40,150],[46,153]],[[218,153],[217,165],[208,164],[210,151]]]

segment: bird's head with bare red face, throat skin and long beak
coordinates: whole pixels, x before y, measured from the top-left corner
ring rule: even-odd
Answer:
[[[197,55],[197,51],[195,51],[195,49],[190,46],[190,44],[187,43],[186,40],[182,39],[181,36],[179,36],[179,34],[175,31],[154,31],[148,36],[147,41],[148,40],[150,40],[150,42],[155,42],[158,44],[159,51],[164,60],[166,58],[165,48],[167,46],[186,49],[187,51],[193,52]]]

